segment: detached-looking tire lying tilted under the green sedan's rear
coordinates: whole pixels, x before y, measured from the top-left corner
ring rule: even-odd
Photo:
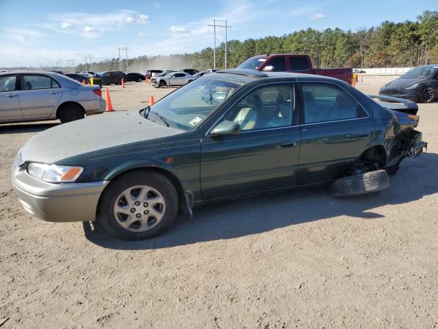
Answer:
[[[389,187],[389,177],[385,170],[370,171],[335,180],[329,186],[331,197],[352,197],[383,191]]]

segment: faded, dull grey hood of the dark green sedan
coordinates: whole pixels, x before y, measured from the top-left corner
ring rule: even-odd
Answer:
[[[29,139],[21,156],[23,161],[55,163],[107,147],[183,133],[145,119],[138,111],[101,114],[40,132]]]

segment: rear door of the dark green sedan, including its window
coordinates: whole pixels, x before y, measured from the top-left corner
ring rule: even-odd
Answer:
[[[300,90],[297,184],[333,180],[370,147],[374,118],[336,84],[302,82]]]

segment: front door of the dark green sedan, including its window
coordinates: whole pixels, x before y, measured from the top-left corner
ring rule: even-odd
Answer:
[[[209,127],[201,141],[203,199],[294,186],[300,152],[294,109],[294,84],[269,84],[244,95]],[[209,135],[222,121],[239,123],[240,134]]]

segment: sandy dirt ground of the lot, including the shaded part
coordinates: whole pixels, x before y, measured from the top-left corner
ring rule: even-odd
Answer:
[[[377,93],[392,79],[358,88]],[[110,86],[116,110],[170,90]],[[313,188],[195,208],[140,242],[27,214],[12,160],[57,123],[0,126],[0,327],[437,328],[438,103],[419,114],[428,153],[405,160],[386,191],[332,199]]]

